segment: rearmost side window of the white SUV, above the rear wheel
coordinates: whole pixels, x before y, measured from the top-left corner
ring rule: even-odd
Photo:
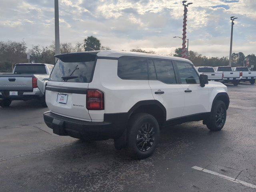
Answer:
[[[121,79],[148,80],[148,68],[146,58],[119,58],[117,75]]]

